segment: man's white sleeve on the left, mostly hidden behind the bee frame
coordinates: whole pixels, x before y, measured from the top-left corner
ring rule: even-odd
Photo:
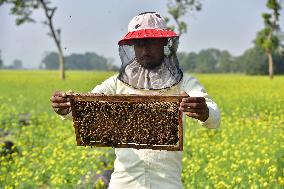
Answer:
[[[107,80],[103,81],[101,84],[97,85],[91,93],[100,93],[100,94],[115,94],[116,93],[116,82],[117,75],[111,76]],[[67,115],[60,116],[62,120],[72,120],[72,112]]]

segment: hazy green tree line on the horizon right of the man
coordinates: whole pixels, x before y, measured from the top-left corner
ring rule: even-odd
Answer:
[[[273,53],[275,74],[284,74],[284,54]],[[201,50],[198,53],[178,53],[182,70],[194,73],[245,73],[249,75],[267,74],[267,57],[263,49],[254,47],[240,56],[232,56],[228,51],[218,49]]]

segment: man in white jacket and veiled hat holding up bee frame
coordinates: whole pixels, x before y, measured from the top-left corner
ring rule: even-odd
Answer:
[[[176,56],[178,36],[167,29],[156,12],[135,16],[118,42],[122,65],[118,75],[96,86],[92,93],[184,95],[180,110],[207,128],[217,128],[220,114],[200,83],[184,76]],[[66,93],[55,92],[52,107],[69,113]],[[70,113],[69,113],[70,115]],[[185,117],[185,116],[183,116]],[[182,152],[116,148],[109,188],[182,188]]]

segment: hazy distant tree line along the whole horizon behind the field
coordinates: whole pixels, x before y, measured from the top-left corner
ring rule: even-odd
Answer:
[[[274,73],[284,74],[284,53],[272,55]],[[73,53],[65,56],[67,70],[112,70],[117,71],[113,58],[107,58],[94,52],[84,54]],[[248,75],[267,75],[268,57],[257,46],[246,50],[240,56],[233,56],[227,50],[215,48],[199,52],[179,52],[178,59],[181,69],[191,73],[242,73]],[[48,52],[43,57],[39,69],[59,69],[57,52]],[[11,65],[5,66],[0,56],[0,68],[23,69],[22,61],[15,59]]]

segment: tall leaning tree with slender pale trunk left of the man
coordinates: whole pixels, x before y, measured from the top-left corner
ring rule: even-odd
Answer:
[[[35,22],[35,20],[31,17],[33,10],[41,8],[44,11],[46,24],[49,27],[50,32],[48,33],[51,36],[56,44],[59,56],[60,63],[60,77],[62,80],[65,79],[65,71],[64,71],[64,55],[61,48],[61,40],[60,40],[60,29],[55,29],[53,25],[53,17],[57,7],[52,7],[50,1],[48,0],[0,0],[0,6],[6,4],[11,4],[12,7],[10,9],[11,14],[16,16],[16,24],[21,25],[26,22]]]

